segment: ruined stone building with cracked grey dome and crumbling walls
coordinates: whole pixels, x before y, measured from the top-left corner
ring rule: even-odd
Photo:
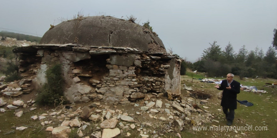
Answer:
[[[46,70],[62,65],[65,96],[71,102],[126,103],[164,93],[180,95],[181,59],[151,30],[113,17],[81,17],[62,22],[39,45],[13,50],[22,76],[37,88]]]

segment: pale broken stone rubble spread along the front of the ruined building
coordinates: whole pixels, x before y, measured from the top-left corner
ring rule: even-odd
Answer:
[[[0,102],[1,106],[5,105],[3,98],[0,98]],[[197,100],[197,102],[199,101]],[[37,109],[36,105],[33,105],[34,100],[27,103],[16,100],[12,103],[14,108],[10,108],[9,105],[6,108],[14,110],[17,117],[25,115],[23,109],[28,108],[31,111]],[[57,138],[68,137],[74,129],[77,129],[79,137],[112,138],[117,135],[159,137],[167,132],[187,129],[191,125],[203,126],[214,118],[209,111],[201,109],[193,98],[174,101],[151,98],[146,101],[127,103],[126,106],[132,109],[120,109],[116,105],[107,103],[70,105],[50,109],[43,114],[33,114],[30,119],[39,120],[38,123],[45,126],[45,131],[52,131],[53,137]],[[1,112],[5,112],[5,109],[1,108]],[[28,128],[27,125],[17,126],[16,130]],[[132,134],[129,133],[130,130],[133,130]]]

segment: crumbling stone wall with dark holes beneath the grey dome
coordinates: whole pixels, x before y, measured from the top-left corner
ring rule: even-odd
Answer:
[[[166,53],[149,55],[132,48],[76,45],[30,46],[14,52],[23,76],[34,79],[38,87],[46,81],[46,69],[61,64],[65,96],[71,102],[124,104],[167,91],[180,95],[181,60]]]

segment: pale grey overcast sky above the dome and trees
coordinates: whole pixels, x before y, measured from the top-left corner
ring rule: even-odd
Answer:
[[[222,50],[230,42],[236,52],[243,45],[266,52],[277,28],[276,6],[277,0],[0,0],[0,28],[5,28],[0,30],[42,37],[50,24],[79,11],[133,15],[140,25],[150,21],[167,51],[195,62],[214,40]]]

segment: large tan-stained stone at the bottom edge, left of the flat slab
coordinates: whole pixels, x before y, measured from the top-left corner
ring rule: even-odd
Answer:
[[[53,138],[68,138],[71,129],[69,126],[58,126],[53,128],[52,135]]]

